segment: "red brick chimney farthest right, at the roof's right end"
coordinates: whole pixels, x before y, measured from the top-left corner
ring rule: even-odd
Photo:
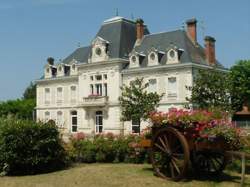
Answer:
[[[205,37],[205,55],[208,64],[215,65],[215,39],[211,36]]]

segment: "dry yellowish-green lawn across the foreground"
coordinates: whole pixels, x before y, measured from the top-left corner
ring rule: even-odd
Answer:
[[[246,186],[250,185],[247,175]],[[148,164],[77,164],[66,170],[53,173],[0,177],[1,187],[235,187],[240,184],[240,174],[226,172],[220,180],[188,178],[182,182],[172,182],[155,177]]]

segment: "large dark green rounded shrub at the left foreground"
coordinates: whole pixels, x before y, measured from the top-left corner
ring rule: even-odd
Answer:
[[[0,119],[2,175],[49,172],[66,164],[66,152],[53,123]]]

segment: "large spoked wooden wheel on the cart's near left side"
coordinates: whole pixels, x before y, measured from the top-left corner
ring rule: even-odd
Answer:
[[[176,129],[160,129],[152,139],[151,162],[155,174],[178,181],[185,177],[189,163],[186,138]]]

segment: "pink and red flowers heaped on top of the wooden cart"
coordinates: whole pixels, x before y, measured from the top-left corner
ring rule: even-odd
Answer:
[[[227,120],[223,112],[174,109],[166,113],[152,112],[149,118],[154,126],[174,126],[188,138],[198,141],[215,141],[220,138],[228,145],[239,148],[239,129]]]

